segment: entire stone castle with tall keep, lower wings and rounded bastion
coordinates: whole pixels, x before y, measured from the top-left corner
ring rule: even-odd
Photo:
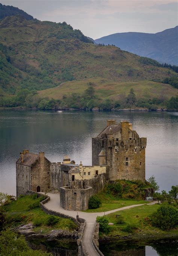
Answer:
[[[64,209],[85,210],[108,180],[145,181],[145,148],[146,138],[139,138],[128,121],[107,120],[107,127],[92,138],[92,166],[75,164],[69,156],[51,163],[44,152],[23,150],[16,162],[17,197],[28,190],[57,190]]]

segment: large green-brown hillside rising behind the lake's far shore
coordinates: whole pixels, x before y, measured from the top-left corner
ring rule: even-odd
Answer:
[[[98,78],[107,79],[109,81],[107,90],[110,90],[112,83],[122,83],[122,86],[125,86],[123,82],[138,82],[139,85],[143,80],[162,82],[172,77],[175,79],[176,76],[177,73],[172,67],[162,67],[152,59],[124,52],[115,46],[95,45],[80,30],[74,30],[65,22],[28,21],[21,15],[0,20],[0,105],[2,106],[24,105],[25,98],[23,100],[17,98],[17,95],[21,94],[21,89],[26,89],[25,94],[31,96],[36,95],[35,91],[47,88],[54,88],[54,91],[56,88],[60,94],[60,86],[72,80],[75,80],[75,83],[80,81],[78,83],[81,89],[77,93],[83,94],[86,80],[91,78],[92,82],[89,81],[87,86],[94,86],[97,91]],[[61,91],[59,99],[65,96],[65,88],[66,92],[68,91],[68,84],[62,85],[63,92]],[[159,86],[162,86],[161,83]],[[175,95],[175,88],[168,83],[166,86],[170,93],[167,95],[166,91],[162,90],[165,97],[161,97],[169,100]],[[117,88],[116,85],[113,90],[115,97],[120,94]],[[69,94],[74,91],[75,88],[71,87]],[[138,86],[135,93],[139,98]],[[155,97],[160,96],[156,93],[155,91]],[[150,95],[152,97],[152,93]],[[102,93],[101,89],[97,101],[102,102],[102,99],[110,96],[108,93]],[[48,92],[44,97],[48,97]],[[32,105],[37,107],[38,104]],[[68,103],[64,105],[67,106]],[[84,106],[87,106],[86,102]]]

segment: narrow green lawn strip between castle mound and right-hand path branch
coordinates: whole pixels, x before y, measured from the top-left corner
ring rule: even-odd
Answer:
[[[87,209],[84,212],[107,212],[114,209],[119,209],[125,206],[133,205],[133,204],[143,204],[149,203],[144,200],[136,201],[136,200],[112,200],[111,203],[102,203],[100,208],[97,209]]]

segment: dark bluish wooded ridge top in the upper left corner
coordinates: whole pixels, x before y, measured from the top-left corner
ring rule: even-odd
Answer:
[[[32,15],[27,14],[23,10],[10,5],[2,5],[0,3],[0,19],[14,15],[22,15],[26,20],[34,20]]]

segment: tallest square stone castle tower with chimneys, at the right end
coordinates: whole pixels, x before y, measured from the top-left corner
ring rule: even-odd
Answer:
[[[145,181],[145,148],[146,138],[128,121],[107,120],[107,127],[92,138],[92,165],[109,165],[110,180]]]

